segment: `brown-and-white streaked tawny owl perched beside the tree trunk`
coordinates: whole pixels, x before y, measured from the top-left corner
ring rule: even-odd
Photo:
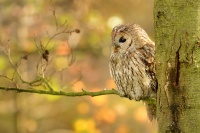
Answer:
[[[137,24],[118,25],[112,31],[110,73],[122,97],[139,101],[156,98],[155,44]],[[149,119],[156,105],[145,102]]]

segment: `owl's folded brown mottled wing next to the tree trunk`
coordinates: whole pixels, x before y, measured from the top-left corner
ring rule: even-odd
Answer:
[[[155,70],[155,45],[147,43],[142,48],[138,49],[141,62],[145,65],[146,74],[151,78],[151,89],[157,91],[157,79]]]

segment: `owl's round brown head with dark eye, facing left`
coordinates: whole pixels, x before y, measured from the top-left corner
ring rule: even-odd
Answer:
[[[136,50],[152,43],[147,33],[137,24],[118,25],[112,31],[112,50],[114,52]]]

